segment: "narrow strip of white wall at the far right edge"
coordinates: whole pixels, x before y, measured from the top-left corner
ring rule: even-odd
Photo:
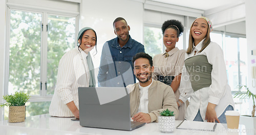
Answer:
[[[247,38],[247,58],[248,58],[248,87],[250,90],[256,93],[256,88],[252,87],[252,76],[251,76],[251,67],[256,66],[256,63],[253,63],[252,60],[256,61],[256,55],[251,55],[251,50],[256,50],[255,37],[256,37],[256,1],[255,0],[246,0],[246,38]],[[252,106],[252,105],[251,105]]]

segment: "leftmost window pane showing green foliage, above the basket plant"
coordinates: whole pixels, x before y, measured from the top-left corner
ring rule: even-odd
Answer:
[[[41,14],[12,10],[10,25],[9,89],[39,95]]]

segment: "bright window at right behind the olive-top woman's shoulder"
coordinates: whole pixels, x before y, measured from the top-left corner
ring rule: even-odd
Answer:
[[[226,62],[228,84],[232,94],[236,94],[240,85],[247,85],[247,43],[244,35],[231,33],[210,34],[211,41],[217,42],[223,49]],[[241,91],[246,91],[241,89]],[[241,115],[250,115],[248,99],[235,98],[234,108]]]

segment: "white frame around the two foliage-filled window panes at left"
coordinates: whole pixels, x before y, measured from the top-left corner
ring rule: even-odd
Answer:
[[[80,12],[81,12],[81,3],[77,2],[79,12],[67,12],[57,9],[47,9],[36,6],[27,6],[23,4],[8,3],[7,2],[7,12],[6,12],[6,50],[5,50],[5,73],[4,73],[4,95],[8,95],[8,85],[9,85],[9,61],[10,61],[10,15],[11,10],[24,11],[24,12],[33,12],[42,14],[42,23],[48,24],[48,15],[60,15],[66,17],[75,17],[75,39],[77,38],[77,33],[79,31],[79,21],[80,21]],[[38,4],[40,5],[40,4]],[[46,28],[46,25],[44,25]],[[40,61],[40,81],[42,82],[42,89],[39,89],[39,95],[32,95],[29,102],[44,102],[51,101],[53,95],[47,95],[46,86],[44,82],[47,80],[47,38],[48,34],[46,31],[41,31],[41,61]],[[76,42],[74,47],[76,47]],[[40,82],[38,82],[40,83]]]

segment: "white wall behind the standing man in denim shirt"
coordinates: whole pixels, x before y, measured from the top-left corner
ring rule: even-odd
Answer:
[[[92,27],[97,34],[97,51],[94,66],[98,68],[104,42],[116,37],[113,21],[123,17],[130,26],[130,35],[143,42],[143,3],[131,0],[86,0],[81,5],[80,28]],[[97,73],[97,71],[95,71]]]

